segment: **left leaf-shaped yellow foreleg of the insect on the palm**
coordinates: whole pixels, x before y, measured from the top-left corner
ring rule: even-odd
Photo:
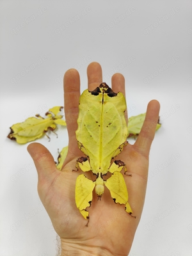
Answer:
[[[86,207],[90,207],[93,198],[95,182],[80,174],[76,180],[76,205],[83,217],[88,220],[89,212]]]

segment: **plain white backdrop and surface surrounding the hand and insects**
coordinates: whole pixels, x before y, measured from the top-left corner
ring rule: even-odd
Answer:
[[[129,116],[161,103],[147,196],[131,256],[192,255],[191,1],[0,1],[0,255],[52,256],[56,233],[36,191],[27,145],[9,127],[63,106],[63,74],[98,61],[103,81],[121,72]],[[57,158],[67,131],[38,142]],[[130,141],[134,143],[134,141]]]

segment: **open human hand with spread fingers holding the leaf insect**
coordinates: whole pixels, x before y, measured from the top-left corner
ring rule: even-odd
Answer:
[[[102,70],[99,63],[88,66],[88,89],[94,90],[102,83]],[[112,77],[114,92],[125,94],[125,81],[121,74]],[[145,200],[148,174],[148,154],[154,139],[159,116],[159,102],[148,103],[147,115],[141,133],[134,145],[127,145],[116,159],[124,161],[127,174],[124,175],[129,193],[132,218],[123,205],[115,204],[107,188],[101,200],[93,190],[92,206],[88,208],[90,221],[79,212],[75,203],[76,179],[81,170],[72,172],[78,157],[83,153],[77,147],[76,129],[80,97],[79,73],[70,69],[64,77],[65,118],[69,136],[68,155],[62,171],[55,166],[51,153],[39,143],[28,146],[29,154],[35,161],[38,172],[38,193],[51,218],[54,229],[61,237],[61,255],[127,255],[141,218]],[[125,113],[125,117],[127,115]],[[92,173],[86,173],[95,180]],[[108,176],[105,178],[107,179]]]

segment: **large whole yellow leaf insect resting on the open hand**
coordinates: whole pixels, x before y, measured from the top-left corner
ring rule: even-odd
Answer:
[[[92,92],[85,90],[79,100],[79,116],[76,138],[79,149],[86,157],[79,157],[77,170],[92,171],[96,180],[88,179],[80,174],[76,180],[76,205],[85,219],[89,219],[86,209],[92,202],[92,192],[100,199],[104,193],[104,185],[109,189],[115,203],[124,204],[125,211],[132,214],[128,203],[128,192],[124,173],[125,163],[111,159],[118,156],[127,145],[127,124],[124,112],[126,102],[123,93],[115,93],[106,83],[100,84]],[[104,180],[110,172],[111,177]]]

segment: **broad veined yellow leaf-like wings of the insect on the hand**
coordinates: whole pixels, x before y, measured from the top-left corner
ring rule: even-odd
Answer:
[[[113,92],[113,91],[112,91]],[[76,137],[81,150],[90,157],[93,173],[108,172],[116,149],[126,141],[127,124],[122,93],[93,93],[85,90],[79,100]]]

